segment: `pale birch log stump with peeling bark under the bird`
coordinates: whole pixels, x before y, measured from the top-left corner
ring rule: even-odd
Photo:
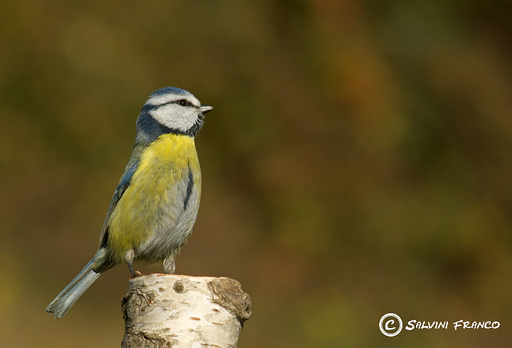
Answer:
[[[150,274],[122,300],[123,348],[237,347],[252,302],[230,278]]]

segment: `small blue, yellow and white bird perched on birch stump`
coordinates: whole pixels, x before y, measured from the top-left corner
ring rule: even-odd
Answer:
[[[103,223],[92,260],[46,308],[63,317],[97,278],[134,260],[161,263],[174,274],[174,256],[192,232],[201,200],[194,139],[212,110],[192,93],[165,87],[149,95],[137,117],[135,144]]]

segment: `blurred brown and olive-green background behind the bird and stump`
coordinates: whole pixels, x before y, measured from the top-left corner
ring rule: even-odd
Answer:
[[[44,310],[166,85],[215,106],[176,264],[242,283],[239,347],[510,347],[511,40],[511,1],[2,1],[2,347],[119,347],[124,265]]]

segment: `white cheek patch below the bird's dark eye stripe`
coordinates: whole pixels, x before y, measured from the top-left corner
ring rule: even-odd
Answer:
[[[149,115],[162,125],[181,132],[190,130],[198,120],[197,110],[180,107],[176,104],[163,105],[149,111]]]

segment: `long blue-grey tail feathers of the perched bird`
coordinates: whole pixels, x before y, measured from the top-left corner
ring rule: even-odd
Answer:
[[[76,300],[78,300],[85,290],[101,275],[101,273],[96,273],[92,270],[94,263],[95,259],[93,258],[87,263],[85,268],[78,273],[75,279],[55,297],[55,300],[48,305],[46,312],[55,312],[56,318],[61,318],[68,312],[71,306],[75,304]]]

